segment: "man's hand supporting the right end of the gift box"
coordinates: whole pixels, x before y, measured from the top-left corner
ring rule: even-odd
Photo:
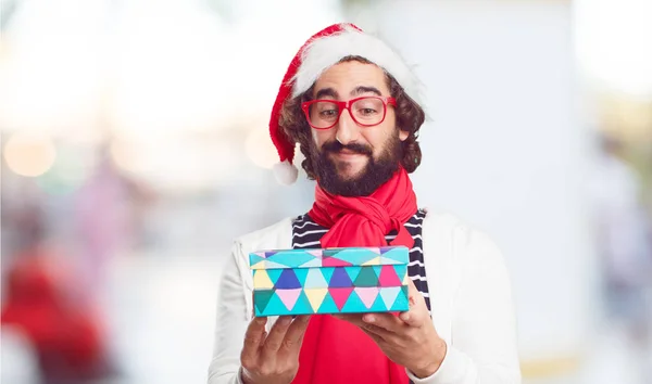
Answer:
[[[410,310],[391,313],[336,315],[368,334],[385,355],[408,368],[417,377],[434,374],[446,356],[446,342],[439,337],[426,302],[410,280]]]

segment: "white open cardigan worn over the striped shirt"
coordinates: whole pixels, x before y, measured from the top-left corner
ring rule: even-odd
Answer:
[[[416,384],[521,383],[511,284],[500,249],[452,215],[428,214],[422,236],[432,323],[448,351],[435,374],[417,379],[408,371],[410,379]],[[249,253],[290,248],[291,239],[287,218],[235,241],[220,285],[209,384],[242,383],[240,351],[253,308]],[[269,318],[267,327],[276,319]]]

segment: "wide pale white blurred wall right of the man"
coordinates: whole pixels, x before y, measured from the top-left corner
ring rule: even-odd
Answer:
[[[427,88],[419,205],[489,232],[514,284],[525,364],[582,353],[594,265],[569,2],[388,1],[375,28]],[[364,17],[361,21],[368,21]]]

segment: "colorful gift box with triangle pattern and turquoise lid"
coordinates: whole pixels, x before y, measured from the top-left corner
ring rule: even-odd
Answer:
[[[404,311],[404,246],[261,251],[249,254],[255,316]]]

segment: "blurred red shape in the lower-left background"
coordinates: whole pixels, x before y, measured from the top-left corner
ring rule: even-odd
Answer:
[[[73,382],[101,375],[105,369],[101,322],[91,305],[75,299],[72,269],[41,248],[14,260],[1,323],[24,332],[45,377]]]

